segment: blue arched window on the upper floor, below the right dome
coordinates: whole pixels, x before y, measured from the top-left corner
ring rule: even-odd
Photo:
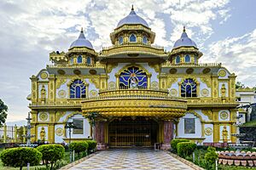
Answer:
[[[192,78],[185,79],[181,84],[181,97],[196,97],[196,82]]]

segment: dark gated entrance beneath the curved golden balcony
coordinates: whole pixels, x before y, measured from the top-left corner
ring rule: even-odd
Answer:
[[[157,142],[158,123],[149,117],[126,116],[109,123],[110,147],[151,147]]]

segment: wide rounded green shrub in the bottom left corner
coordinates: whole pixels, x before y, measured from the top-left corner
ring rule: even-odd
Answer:
[[[22,169],[27,163],[30,163],[31,166],[38,165],[42,159],[42,154],[34,148],[20,147],[3,150],[0,157],[3,161],[3,166],[20,167]]]

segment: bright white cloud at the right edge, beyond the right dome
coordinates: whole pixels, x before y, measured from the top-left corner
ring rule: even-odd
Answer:
[[[221,62],[237,80],[247,86],[255,86],[256,75],[256,29],[241,37],[228,37],[222,41],[212,42],[204,60]]]

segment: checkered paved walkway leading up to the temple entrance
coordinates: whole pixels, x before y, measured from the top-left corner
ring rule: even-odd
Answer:
[[[105,150],[69,168],[75,169],[193,169],[164,151],[148,149]]]

